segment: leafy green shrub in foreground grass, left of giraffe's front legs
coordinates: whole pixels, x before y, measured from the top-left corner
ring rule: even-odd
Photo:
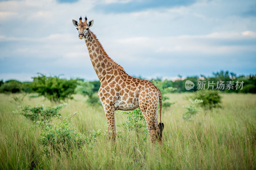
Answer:
[[[68,123],[77,114],[77,112],[74,112],[64,119],[60,115],[56,116],[56,118],[60,119],[60,122],[55,121],[50,123],[48,120],[36,121],[36,124],[42,130],[39,143],[55,151],[63,150],[68,153],[72,149],[80,148],[84,144],[95,142],[98,136],[105,136],[107,134],[107,131],[101,131],[100,129],[93,131],[89,136],[77,132],[77,128]],[[45,152],[47,153],[47,150]]]

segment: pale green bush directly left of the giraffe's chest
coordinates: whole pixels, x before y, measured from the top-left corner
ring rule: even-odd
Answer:
[[[91,82],[77,81],[76,93],[88,96],[87,102],[91,104],[101,104],[98,95],[94,92],[94,85]]]

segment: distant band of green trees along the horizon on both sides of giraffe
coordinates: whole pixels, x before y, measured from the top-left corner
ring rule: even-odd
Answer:
[[[194,83],[194,88],[186,90],[185,84],[187,80]],[[82,83],[83,81],[83,79],[67,80],[65,78],[60,78],[59,76],[47,77],[44,74],[38,74],[37,77],[33,77],[32,82],[20,82],[17,80],[8,80],[4,82],[1,80],[0,93],[37,92],[41,96],[45,96],[50,100],[59,101],[65,100],[66,98],[72,98],[71,95],[74,93],[92,96],[92,93],[98,92],[100,88],[100,81]],[[202,89],[202,83],[204,84],[204,89],[218,89],[227,93],[256,93],[256,74],[237,76],[235,73],[229,71],[224,72],[223,70],[216,73],[213,72],[212,76],[208,77],[200,75],[182,79],[182,76],[179,76],[175,81],[167,79],[162,80],[161,78],[152,79],[150,81],[154,82],[161,90],[173,91],[173,89],[175,89],[175,92],[179,93],[193,92]],[[224,82],[226,86],[219,88],[221,82]],[[239,87],[237,86],[237,82],[239,82]],[[208,86],[209,83],[210,87]],[[76,89],[77,87],[79,88]]]

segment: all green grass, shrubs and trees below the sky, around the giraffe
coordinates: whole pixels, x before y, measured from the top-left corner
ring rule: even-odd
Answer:
[[[163,95],[163,145],[150,143],[139,109],[116,111],[109,141],[99,81],[1,81],[0,169],[255,169],[255,76],[189,79],[244,81],[248,88],[234,93],[180,93],[186,80],[151,80]]]

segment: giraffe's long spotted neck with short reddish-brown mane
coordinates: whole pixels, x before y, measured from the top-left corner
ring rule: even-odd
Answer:
[[[123,67],[108,57],[99,40],[90,30],[88,31],[88,37],[85,39],[85,43],[89,51],[92,66],[100,81],[113,69],[124,71]]]

